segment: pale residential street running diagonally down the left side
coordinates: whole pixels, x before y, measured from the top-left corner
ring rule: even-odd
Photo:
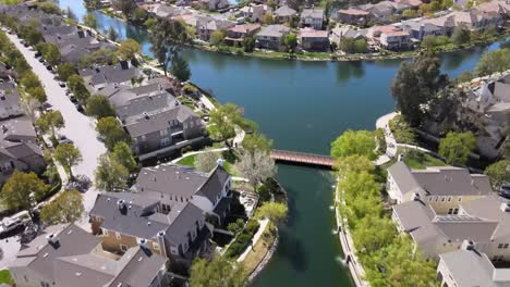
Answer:
[[[59,86],[58,82],[54,79],[54,75],[50,73],[45,65],[39,63],[33,51],[25,48],[15,35],[8,34],[8,36],[23,53],[34,73],[39,76],[45,86],[48,102],[52,105],[52,109],[62,113],[65,120],[65,128],[61,129],[60,134],[71,139],[82,152],[83,162],[73,169],[74,174],[86,175],[94,182],[94,170],[96,169],[98,157],[106,152],[106,148],[105,145],[97,139],[93,118],[87,117],[76,110],[68,96],[65,96],[65,88]],[[96,195],[97,190],[95,190],[94,187],[84,194],[86,211],[93,208]]]

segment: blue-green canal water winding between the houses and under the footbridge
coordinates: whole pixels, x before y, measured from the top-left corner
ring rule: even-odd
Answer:
[[[78,0],[60,0],[60,5],[78,17],[86,13]],[[102,32],[113,27],[150,54],[146,30],[94,13]],[[498,47],[442,54],[442,70],[454,77],[472,70],[484,50]],[[271,61],[193,49],[184,55],[192,80],[210,89],[220,102],[244,108],[245,116],[258,123],[276,148],[325,154],[342,132],[374,129],[376,118],[393,109],[389,86],[401,62]],[[281,164],[278,169],[289,192],[290,216],[274,259],[254,286],[352,286],[332,234],[330,173]]]

